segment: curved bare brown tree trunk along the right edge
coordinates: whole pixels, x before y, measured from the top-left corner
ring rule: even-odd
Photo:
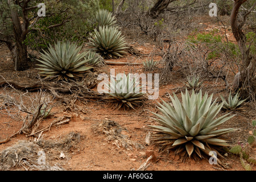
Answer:
[[[239,8],[247,0],[235,0],[233,10],[231,13],[230,23],[235,40],[237,40],[238,47],[242,54],[242,67],[241,70],[235,75],[233,80],[233,89],[241,88],[245,84],[246,80],[251,79],[255,72],[255,60],[250,56],[250,48],[246,47],[246,36],[242,31],[242,27],[246,22],[246,16],[250,13],[249,10],[243,17],[243,22],[238,24],[237,16]],[[255,7],[256,3],[253,7]],[[252,9],[253,9],[252,7]]]

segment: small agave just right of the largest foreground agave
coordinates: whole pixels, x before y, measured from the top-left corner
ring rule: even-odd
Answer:
[[[226,100],[225,100],[225,98],[223,98],[222,96],[221,96],[221,100],[222,100],[222,102],[223,102],[223,107],[222,107],[222,109],[226,109],[226,110],[235,110],[235,109],[237,109],[239,106],[241,106],[241,104],[243,103],[243,102],[245,102],[247,99],[245,99],[245,100],[240,100],[239,99],[239,92],[237,92],[236,94],[235,94],[235,96],[234,97],[232,97],[231,96],[231,92],[229,93],[229,101],[227,102]]]

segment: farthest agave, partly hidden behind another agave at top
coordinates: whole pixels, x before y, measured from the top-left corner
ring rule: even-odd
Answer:
[[[93,23],[98,26],[117,26],[117,20],[112,13],[107,10],[98,10],[94,16]]]

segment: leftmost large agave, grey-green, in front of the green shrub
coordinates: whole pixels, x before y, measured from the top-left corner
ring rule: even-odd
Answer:
[[[55,47],[55,48],[54,48]],[[37,68],[42,72],[39,74],[46,77],[56,77],[58,80],[65,78],[81,77],[82,73],[92,67],[87,67],[85,64],[90,60],[82,60],[86,52],[79,53],[82,47],[70,42],[57,42],[54,47],[49,45],[47,51],[43,50],[41,59],[38,64],[42,68]]]

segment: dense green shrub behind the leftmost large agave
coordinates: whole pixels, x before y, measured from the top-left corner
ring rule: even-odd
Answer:
[[[94,12],[98,10],[98,0],[48,0],[47,3],[51,6],[47,6],[46,16],[38,19],[33,27],[37,30],[31,30],[26,37],[25,44],[29,48],[41,51],[41,49],[46,49],[48,44],[54,44],[58,40],[82,44],[94,30],[90,20]],[[62,23],[63,20],[68,21],[62,26],[49,28],[53,24]]]

